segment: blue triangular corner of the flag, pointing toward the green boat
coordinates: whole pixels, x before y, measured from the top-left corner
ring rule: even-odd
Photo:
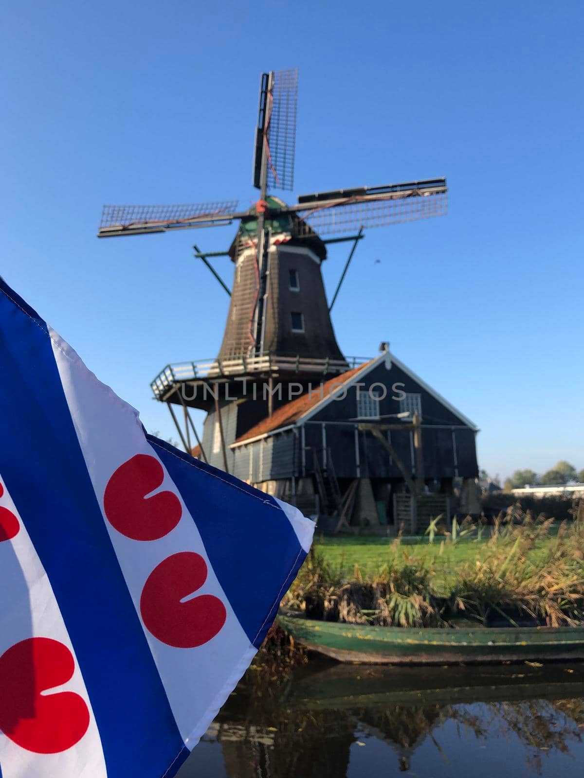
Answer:
[[[294,527],[269,495],[147,438],[185,500],[239,623],[259,647],[306,556]]]

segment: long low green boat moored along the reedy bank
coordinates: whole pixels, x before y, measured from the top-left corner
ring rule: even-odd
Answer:
[[[278,622],[302,646],[339,662],[459,664],[460,662],[584,659],[584,626],[409,629],[304,619]]]

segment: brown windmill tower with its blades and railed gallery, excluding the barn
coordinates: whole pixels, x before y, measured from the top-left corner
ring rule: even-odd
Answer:
[[[330,310],[364,230],[446,212],[445,178],[320,191],[299,196],[293,205],[269,194],[274,189],[290,191],[294,187],[296,115],[297,70],[263,73],[252,166],[252,183],[259,190],[259,199],[252,209],[237,210],[233,200],[104,206],[98,237],[174,232],[239,221],[228,251],[204,253],[195,246],[195,256],[231,298],[219,355],[202,363],[168,365],[152,384],[155,397],[167,402],[177,426],[172,405],[183,406],[185,434],[180,429],[179,433],[189,450],[189,430],[195,433],[195,428],[188,423],[188,406],[209,410],[212,405],[185,394],[185,384],[234,384],[242,377],[284,377],[305,386],[309,378],[343,373],[351,361],[336,343]],[[321,264],[326,244],[344,240],[353,245],[329,303]],[[225,255],[235,265],[232,289],[209,261]],[[267,412],[273,412],[271,395]],[[250,426],[259,415],[260,411],[250,415]],[[220,434],[224,455],[223,429]]]

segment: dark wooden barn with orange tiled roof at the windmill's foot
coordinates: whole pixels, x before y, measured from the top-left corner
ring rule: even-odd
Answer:
[[[252,425],[257,393],[218,398],[202,438],[209,464],[332,530],[420,531],[438,513],[478,510],[477,427],[389,349],[318,384],[272,391],[284,401]],[[286,391],[298,396],[282,398]]]

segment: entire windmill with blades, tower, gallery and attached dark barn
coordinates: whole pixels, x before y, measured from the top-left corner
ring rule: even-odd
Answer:
[[[293,186],[296,95],[296,71],[262,75],[252,209],[104,208],[99,237],[240,221],[228,251],[195,247],[230,295],[219,352],[164,367],[154,397],[167,404],[185,450],[318,516],[325,530],[413,533],[438,513],[478,512],[477,427],[389,344],[374,359],[344,356],[330,317],[364,228],[441,216],[446,181],[319,192],[297,205],[268,195],[269,185]],[[327,244],[342,240],[352,246],[329,303],[322,262]],[[234,264],[231,288],[209,261],[216,256]],[[206,412],[202,440],[192,408]]]

